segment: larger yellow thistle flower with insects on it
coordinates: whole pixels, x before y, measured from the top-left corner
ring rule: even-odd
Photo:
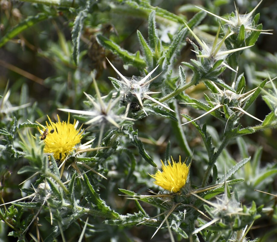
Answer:
[[[48,115],[47,115],[48,117]],[[39,129],[42,137],[40,139],[44,140],[45,147],[43,149],[44,153],[53,153],[55,159],[64,160],[66,154],[75,149],[75,145],[78,144],[82,138],[82,132],[80,132],[81,127],[76,130],[78,121],[74,119],[74,123],[69,123],[69,114],[67,123],[65,121],[61,122],[59,116],[58,122],[53,123],[48,117],[50,124],[46,121],[45,129],[42,131]],[[48,129],[48,133],[45,135],[45,130]]]

